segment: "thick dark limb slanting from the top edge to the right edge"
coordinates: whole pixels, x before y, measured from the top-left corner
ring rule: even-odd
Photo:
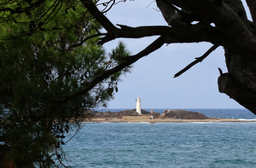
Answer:
[[[204,18],[209,23],[215,23],[215,26],[225,36],[224,46],[230,47],[256,63],[254,54],[256,53],[256,37],[248,28],[248,24],[245,24],[245,20],[239,16],[239,12],[231,5],[223,1],[220,6],[217,6],[212,0],[174,0],[173,4]]]

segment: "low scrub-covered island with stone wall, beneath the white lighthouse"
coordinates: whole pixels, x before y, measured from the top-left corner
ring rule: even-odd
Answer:
[[[165,110],[163,114],[155,111],[148,112],[141,109],[141,114],[133,110],[124,110],[119,112],[98,112],[90,111],[92,118],[87,122],[256,122],[256,121],[241,121],[239,119],[228,118],[212,118],[207,117],[202,113],[186,110]],[[123,117],[126,116],[126,117]],[[129,117],[130,116],[130,117]],[[134,117],[138,116],[138,117]],[[147,117],[148,116],[148,117]]]

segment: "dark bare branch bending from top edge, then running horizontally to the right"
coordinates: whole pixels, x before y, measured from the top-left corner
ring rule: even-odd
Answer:
[[[91,0],[84,0],[82,3],[99,23],[108,31],[105,37],[101,38],[99,44],[111,41],[116,38],[142,38],[154,35],[164,35],[168,38],[177,39],[179,43],[207,41],[213,44],[221,43],[219,31],[210,25],[193,25],[192,27],[174,28],[168,26],[142,26],[132,28],[129,26],[118,25],[116,28],[94,5]]]

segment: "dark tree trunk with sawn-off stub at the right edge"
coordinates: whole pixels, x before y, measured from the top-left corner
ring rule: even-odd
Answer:
[[[224,47],[228,74],[218,78],[219,92],[256,114],[256,64]]]

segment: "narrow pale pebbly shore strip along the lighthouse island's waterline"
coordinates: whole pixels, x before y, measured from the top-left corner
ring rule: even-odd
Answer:
[[[173,120],[173,119],[141,119],[141,120],[129,120],[125,121],[121,118],[93,118],[90,121],[87,122],[131,122],[131,123],[140,123],[140,122],[161,122],[161,123],[171,123],[171,122],[176,122],[176,123],[186,123],[186,122],[256,122],[256,121],[241,121],[239,119],[228,119],[228,118],[210,118],[210,119],[182,119],[182,120]]]

